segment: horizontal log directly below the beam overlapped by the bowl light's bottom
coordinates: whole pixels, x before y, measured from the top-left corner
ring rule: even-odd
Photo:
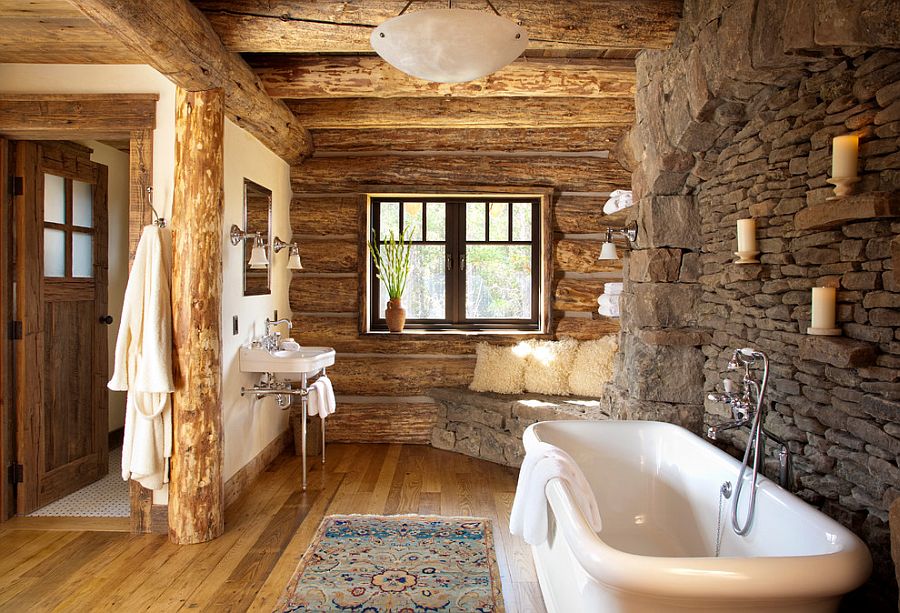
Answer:
[[[285,102],[309,129],[596,128],[634,121],[633,98],[337,98]]]

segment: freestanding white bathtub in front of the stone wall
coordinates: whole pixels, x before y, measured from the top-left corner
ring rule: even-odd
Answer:
[[[731,529],[725,501],[715,557],[719,490],[740,462],[683,428],[549,421],[528,428],[525,449],[539,440],[575,459],[603,521],[594,533],[567,486],[547,485],[551,536],[532,551],[550,613],[835,611],[869,576],[856,535],[763,477],[747,536]]]

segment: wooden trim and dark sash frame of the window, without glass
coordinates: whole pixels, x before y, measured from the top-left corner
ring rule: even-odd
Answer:
[[[377,192],[366,194],[363,208],[363,216],[360,228],[365,239],[362,241],[360,253],[361,300],[360,322],[362,333],[387,333],[387,324],[383,318],[379,318],[380,302],[382,299],[376,277],[375,265],[371,255],[365,248],[367,241],[372,236],[372,231],[379,232],[380,216],[375,213],[380,209],[381,203],[387,202],[422,202],[428,201],[447,202],[445,214],[447,223],[445,226],[444,241],[417,241],[420,244],[445,245],[445,257],[452,262],[452,270],[445,267],[445,291],[446,304],[445,315],[440,319],[407,320],[404,333],[407,334],[482,334],[482,333],[523,333],[546,334],[550,330],[550,290],[551,290],[551,241],[550,241],[550,194],[543,190],[535,191],[472,191],[472,192],[441,192],[441,191],[403,191],[403,192]],[[528,201],[532,205],[532,232],[529,241],[467,241],[465,236],[465,208],[466,202],[522,202]],[[403,207],[401,204],[401,211]],[[461,209],[461,210],[460,210]],[[486,223],[489,214],[489,206],[485,206]],[[454,214],[452,211],[457,210]],[[513,207],[508,207],[508,215],[512,216]],[[425,213],[427,217],[427,213]],[[401,216],[402,223],[402,216]],[[423,227],[425,220],[423,219]],[[486,232],[489,232],[486,229]],[[513,226],[509,225],[507,237],[512,239]],[[427,234],[421,238],[427,238]],[[485,235],[489,238],[489,234]],[[528,319],[466,319],[465,318],[465,275],[461,272],[461,259],[467,244],[527,244],[532,246],[532,314]]]

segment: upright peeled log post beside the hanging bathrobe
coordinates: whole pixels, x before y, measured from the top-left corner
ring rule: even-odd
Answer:
[[[222,214],[225,97],[178,89],[172,275],[175,394],[169,539],[225,530],[222,483]]]

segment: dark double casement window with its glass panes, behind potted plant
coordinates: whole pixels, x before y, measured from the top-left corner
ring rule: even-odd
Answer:
[[[409,330],[540,331],[545,307],[539,195],[372,195],[369,238],[412,233],[403,294]],[[369,329],[387,291],[368,258]]]

